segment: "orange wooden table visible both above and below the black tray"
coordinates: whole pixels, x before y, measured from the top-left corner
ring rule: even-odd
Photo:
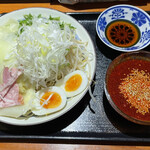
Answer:
[[[99,3],[78,3],[76,5],[64,5],[57,2],[57,0],[0,0],[0,13],[8,13],[14,10],[28,8],[28,7],[46,7],[56,9],[62,12],[102,12],[106,8],[116,4],[130,4],[137,6],[145,11],[150,11],[150,0],[129,0],[116,2],[99,2]],[[115,145],[81,145],[81,144],[52,144],[52,143],[0,143],[0,150],[147,150],[150,146],[115,146]]]

